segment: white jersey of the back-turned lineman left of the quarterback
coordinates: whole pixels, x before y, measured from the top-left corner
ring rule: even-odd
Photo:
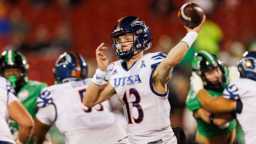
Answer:
[[[82,103],[90,82],[91,78],[87,78],[42,89],[37,98],[36,117],[49,126],[55,122],[68,144],[118,143],[127,134],[115,123],[109,102],[92,108]]]

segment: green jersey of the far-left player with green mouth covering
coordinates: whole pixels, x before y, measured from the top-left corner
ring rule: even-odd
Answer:
[[[36,116],[36,101],[37,97],[40,94],[40,91],[47,87],[46,83],[39,81],[29,80],[21,89],[17,92],[17,98],[20,100],[22,105],[27,109],[31,114],[32,118]],[[18,124],[14,121],[9,120],[9,127],[11,133],[14,135],[14,138],[18,135]],[[28,144],[34,144],[33,139],[31,138]]]

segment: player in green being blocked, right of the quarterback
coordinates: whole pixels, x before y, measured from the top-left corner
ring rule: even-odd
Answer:
[[[229,69],[215,54],[201,50],[194,54],[191,68],[204,82],[212,97],[222,95],[229,82]],[[197,122],[196,141],[203,144],[232,144],[236,135],[236,120],[232,113],[211,114],[201,107],[196,93],[188,92],[186,106]]]

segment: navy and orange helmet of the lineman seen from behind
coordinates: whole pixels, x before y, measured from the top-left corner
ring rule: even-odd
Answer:
[[[80,54],[65,52],[57,59],[53,73],[55,84],[82,80],[88,76],[88,65]]]

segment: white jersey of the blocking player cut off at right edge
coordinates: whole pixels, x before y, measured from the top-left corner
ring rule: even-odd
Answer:
[[[241,124],[246,144],[256,144],[256,81],[239,79],[226,87],[223,97],[237,101],[236,119]]]

